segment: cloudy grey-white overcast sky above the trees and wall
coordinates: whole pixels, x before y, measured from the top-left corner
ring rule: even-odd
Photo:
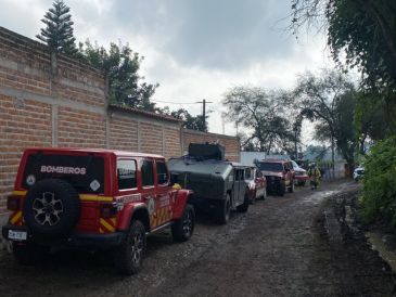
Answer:
[[[155,102],[201,113],[222,132],[222,94],[234,86],[292,88],[296,75],[331,65],[321,35],[285,30],[291,0],[65,0],[78,41],[122,40],[144,56],[141,75],[158,82]],[[0,26],[36,39],[52,0],[0,0]],[[164,104],[158,103],[159,106]],[[227,134],[235,128],[227,124]],[[309,130],[309,129],[306,129]],[[309,133],[305,133],[309,140]]]

